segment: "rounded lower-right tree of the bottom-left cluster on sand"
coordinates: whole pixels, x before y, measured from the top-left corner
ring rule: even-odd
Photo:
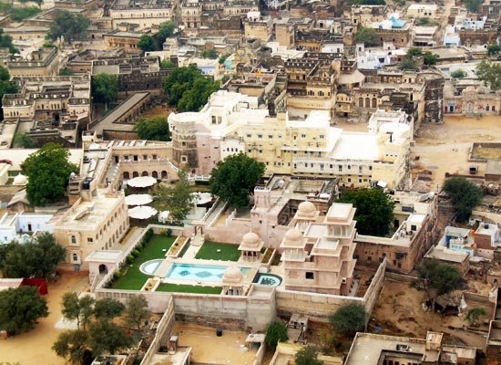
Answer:
[[[103,353],[114,354],[118,349],[125,349],[132,344],[132,339],[122,328],[107,320],[92,323],[88,329],[88,336],[89,347],[96,357]]]

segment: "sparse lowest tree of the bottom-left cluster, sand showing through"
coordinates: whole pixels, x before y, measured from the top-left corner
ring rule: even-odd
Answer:
[[[81,329],[67,330],[57,337],[52,349],[60,356],[73,364],[84,364],[87,353],[87,332]]]

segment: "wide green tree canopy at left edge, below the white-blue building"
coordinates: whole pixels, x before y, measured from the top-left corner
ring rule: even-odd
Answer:
[[[5,277],[47,277],[66,257],[66,249],[56,243],[54,235],[45,232],[37,242],[5,245],[0,267]]]

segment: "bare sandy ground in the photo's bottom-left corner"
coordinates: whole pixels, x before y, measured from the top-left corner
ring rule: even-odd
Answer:
[[[61,318],[61,297],[67,291],[79,293],[87,287],[87,273],[63,273],[55,284],[49,284],[46,296],[49,316],[40,319],[36,328],[0,342],[0,362],[12,361],[23,365],[59,365],[65,360],[56,356],[51,347],[62,331],[55,325]]]

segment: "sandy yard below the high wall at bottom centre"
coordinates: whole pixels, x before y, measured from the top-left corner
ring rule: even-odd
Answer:
[[[243,349],[247,334],[224,330],[221,337],[216,329],[177,322],[173,333],[179,333],[179,346],[191,346],[191,360],[211,364],[251,364],[256,349]]]

